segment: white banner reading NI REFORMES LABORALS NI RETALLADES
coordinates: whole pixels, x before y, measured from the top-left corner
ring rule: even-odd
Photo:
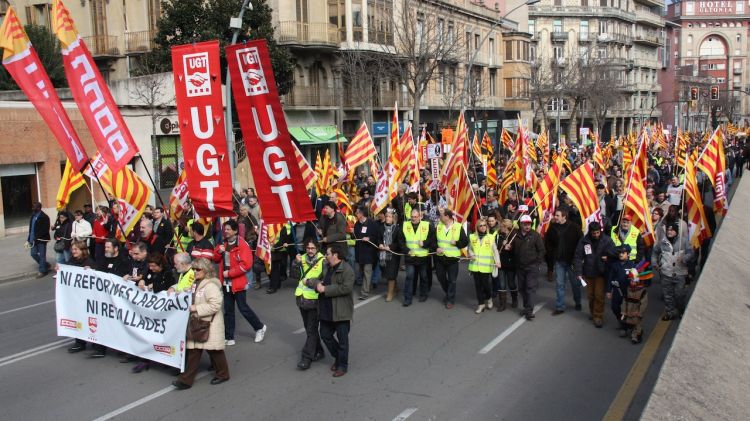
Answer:
[[[191,294],[142,291],[117,275],[60,265],[57,334],[184,369]]]

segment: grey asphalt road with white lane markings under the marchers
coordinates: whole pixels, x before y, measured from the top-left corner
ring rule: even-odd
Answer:
[[[658,284],[651,289],[644,342],[662,311]],[[609,311],[605,327],[595,329],[587,311],[573,310],[570,293],[568,311],[551,316],[554,289],[544,280],[532,322],[511,310],[475,315],[465,269],[456,307],[445,310],[442,297],[435,280],[430,299],[408,308],[382,296],[355,301],[349,373],[334,379],[330,358],[305,372],[295,367],[304,334],[295,333],[301,319],[291,282],[275,295],[251,291],[250,306],[268,325],[265,341],[253,343],[240,318],[237,345],[227,349],[231,380],[211,386],[207,376],[176,391],[167,369],[133,374],[114,353],[98,360],[90,351],[68,354],[70,341],[55,333],[50,277],[2,284],[0,418],[598,420],[643,346],[617,337]],[[638,396],[647,399],[648,390]]]

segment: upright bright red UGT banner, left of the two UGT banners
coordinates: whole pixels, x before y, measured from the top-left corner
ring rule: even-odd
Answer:
[[[234,215],[219,42],[172,47],[172,68],[188,191],[195,212],[201,217]]]

